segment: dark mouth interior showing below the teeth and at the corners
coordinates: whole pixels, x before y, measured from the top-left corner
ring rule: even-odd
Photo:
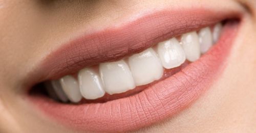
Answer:
[[[227,23],[229,21],[233,21],[233,19],[222,21],[223,26],[225,26],[225,23]],[[133,90],[129,90],[129,91],[126,91],[126,92],[120,93],[120,94],[110,95],[110,94],[105,93],[105,95],[103,97],[95,99],[95,100],[88,100],[88,99],[84,99],[83,98],[80,102],[75,103],[75,104],[82,104],[82,103],[104,103],[104,102],[107,102],[107,101],[111,101],[111,100],[115,100],[115,99],[119,99],[119,98],[124,98],[124,97],[129,97],[129,96],[138,94],[141,91],[145,90],[146,88],[156,84],[157,82],[163,81],[165,78],[174,75],[175,73],[177,73],[180,70],[184,69],[190,63],[191,62],[189,62],[189,61],[185,61],[179,67],[172,68],[172,69],[164,69],[164,73],[163,73],[162,78],[158,79],[157,81],[155,81],[153,83],[150,83],[150,84],[147,84],[147,85],[143,85],[143,86],[137,86]],[[44,97],[53,99],[52,97],[49,96],[49,94],[48,94],[48,92],[47,92],[47,90],[46,90],[46,88],[44,86],[44,83],[39,83],[39,84],[36,84],[35,86],[33,86],[32,89],[29,90],[29,95],[32,95],[32,96],[44,96]],[[53,100],[55,100],[56,102],[60,102],[61,103],[61,101],[59,101],[57,99],[53,99]],[[71,103],[71,102],[65,102],[65,104],[67,104],[67,103]],[[72,104],[74,104],[74,103],[72,103]]]

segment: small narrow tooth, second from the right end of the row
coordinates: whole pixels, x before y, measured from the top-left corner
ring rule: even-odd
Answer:
[[[212,46],[212,35],[210,28],[203,28],[199,31],[199,42],[201,53],[204,54]]]

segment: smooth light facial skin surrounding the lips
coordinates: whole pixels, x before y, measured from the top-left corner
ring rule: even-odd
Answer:
[[[214,85],[176,116],[136,132],[256,131],[256,2],[253,0],[29,1],[0,0],[0,132],[76,132],[24,101],[20,87],[50,51],[74,36],[163,8],[244,9],[243,23]],[[243,6],[242,6],[243,5]]]

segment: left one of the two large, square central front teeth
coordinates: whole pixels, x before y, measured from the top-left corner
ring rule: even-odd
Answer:
[[[135,88],[130,68],[123,60],[101,63],[99,71],[104,90],[109,94],[122,93]]]

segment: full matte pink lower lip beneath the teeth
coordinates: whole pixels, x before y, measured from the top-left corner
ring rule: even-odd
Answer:
[[[130,97],[105,103],[61,104],[29,96],[33,105],[54,120],[82,131],[131,131],[181,112],[221,75],[239,24],[227,23],[218,44],[181,72]]]

